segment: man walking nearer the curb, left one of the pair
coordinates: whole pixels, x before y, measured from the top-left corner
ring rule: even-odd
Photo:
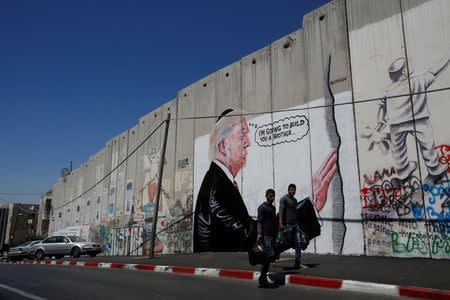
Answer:
[[[261,241],[266,248],[267,257],[261,268],[261,275],[258,283],[260,288],[274,288],[276,284],[269,283],[267,280],[267,272],[269,271],[270,263],[275,257],[274,244],[275,235],[277,232],[277,217],[275,214],[275,191],[268,189],[266,191],[266,201],[258,207],[258,241]]]

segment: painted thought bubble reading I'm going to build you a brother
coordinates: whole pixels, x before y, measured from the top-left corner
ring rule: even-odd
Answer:
[[[255,142],[260,147],[301,140],[309,132],[309,120],[304,115],[286,117],[256,128]]]

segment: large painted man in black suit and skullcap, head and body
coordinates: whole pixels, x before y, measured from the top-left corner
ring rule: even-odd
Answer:
[[[211,161],[201,184],[194,215],[194,251],[243,251],[252,243],[254,220],[239,192],[236,175],[245,166],[250,146],[242,112],[227,109],[210,135]],[[251,240],[250,240],[251,239]]]

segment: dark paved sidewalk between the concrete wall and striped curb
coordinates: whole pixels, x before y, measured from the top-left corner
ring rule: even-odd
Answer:
[[[65,258],[64,260],[260,270],[259,266],[250,266],[247,253],[242,252],[156,255],[153,259],[142,256],[98,256],[95,258],[82,256],[79,259]],[[289,267],[292,264],[292,256],[282,256],[280,260],[271,266],[269,271],[277,274],[296,274],[450,290],[449,260],[304,254],[302,256],[302,264],[308,266],[308,269],[283,270],[284,267]]]

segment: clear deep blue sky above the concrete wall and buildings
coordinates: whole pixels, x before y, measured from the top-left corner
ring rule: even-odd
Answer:
[[[0,200],[37,203],[69,161],[327,2],[0,1]]]

